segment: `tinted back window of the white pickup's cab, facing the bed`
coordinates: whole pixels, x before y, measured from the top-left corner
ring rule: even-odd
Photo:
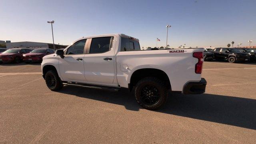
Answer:
[[[136,40],[121,38],[121,52],[140,50],[140,44]]]

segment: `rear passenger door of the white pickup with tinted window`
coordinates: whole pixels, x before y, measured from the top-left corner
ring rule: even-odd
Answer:
[[[112,84],[114,81],[114,36],[91,38],[84,57],[87,82]]]

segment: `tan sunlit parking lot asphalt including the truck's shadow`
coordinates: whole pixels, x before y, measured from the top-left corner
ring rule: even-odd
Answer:
[[[156,111],[127,90],[50,91],[39,64],[0,65],[0,143],[256,142],[256,63],[204,62],[204,94]]]

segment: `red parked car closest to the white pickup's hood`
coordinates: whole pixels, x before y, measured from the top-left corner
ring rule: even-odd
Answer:
[[[42,62],[43,57],[48,54],[54,54],[54,50],[52,50],[50,48],[39,48],[39,49],[32,50],[28,54],[24,54],[23,59],[26,63]]]

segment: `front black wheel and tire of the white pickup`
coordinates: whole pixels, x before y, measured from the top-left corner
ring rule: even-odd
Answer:
[[[60,90],[63,87],[63,84],[58,74],[53,70],[49,70],[48,72],[46,72],[45,82],[47,87],[52,91]]]

